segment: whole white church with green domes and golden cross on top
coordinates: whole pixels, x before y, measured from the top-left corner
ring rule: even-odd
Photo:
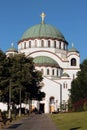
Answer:
[[[13,46],[6,55],[24,53],[33,57],[35,68],[43,73],[42,92],[45,98],[40,101],[40,110],[52,113],[57,109],[67,109],[71,82],[80,70],[80,54],[74,45],[68,49],[64,35],[54,26],[45,23],[45,14],[41,14],[41,23],[28,28],[18,41],[18,50]],[[36,101],[32,101],[33,107]]]

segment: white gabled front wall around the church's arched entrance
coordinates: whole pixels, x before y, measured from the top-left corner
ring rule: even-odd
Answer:
[[[58,101],[58,107],[60,106],[60,84],[53,82],[52,80],[43,79],[44,86],[42,87],[43,92],[46,93],[45,97],[45,113],[49,113],[50,97],[54,97],[54,106],[56,110],[56,101]]]

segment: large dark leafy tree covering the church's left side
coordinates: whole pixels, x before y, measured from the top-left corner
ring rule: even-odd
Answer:
[[[24,54],[17,54],[14,57],[6,57],[3,53],[1,55],[1,101],[9,102],[9,85],[11,85],[11,102],[14,104],[19,104],[19,90],[21,90],[22,102],[25,100],[26,92],[29,93],[29,98],[36,99],[40,91],[38,85],[43,78],[42,73],[35,70],[33,58],[27,58]]]

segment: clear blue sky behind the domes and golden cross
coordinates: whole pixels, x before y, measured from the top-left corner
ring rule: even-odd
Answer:
[[[21,39],[29,27],[45,22],[59,29],[71,48],[87,59],[87,0],[0,0],[0,49],[4,52]]]

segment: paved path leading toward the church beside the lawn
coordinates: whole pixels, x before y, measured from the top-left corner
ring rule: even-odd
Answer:
[[[26,119],[22,119],[2,130],[58,130],[47,114],[32,114]]]

